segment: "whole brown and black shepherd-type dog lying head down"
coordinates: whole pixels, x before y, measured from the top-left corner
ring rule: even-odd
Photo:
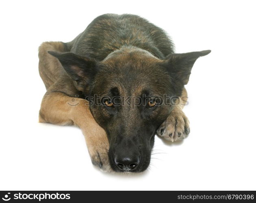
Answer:
[[[100,15],[73,41],[40,45],[39,122],[80,127],[103,171],[145,171],[156,134],[188,136],[184,85],[209,53],[174,53],[165,31],[137,15]]]

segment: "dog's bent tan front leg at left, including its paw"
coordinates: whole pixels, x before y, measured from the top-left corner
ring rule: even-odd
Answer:
[[[39,122],[80,127],[85,136],[92,163],[102,171],[111,171],[106,132],[94,120],[89,106],[86,105],[87,101],[59,92],[50,92],[52,87],[43,97]]]

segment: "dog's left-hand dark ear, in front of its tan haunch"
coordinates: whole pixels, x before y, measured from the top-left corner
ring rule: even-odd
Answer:
[[[70,52],[48,51],[48,53],[59,59],[67,74],[74,80],[78,90],[83,91],[88,86],[96,71],[94,59],[78,56]]]

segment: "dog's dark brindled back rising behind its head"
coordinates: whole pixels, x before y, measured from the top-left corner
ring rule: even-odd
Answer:
[[[73,41],[67,43],[71,52],[103,60],[122,46],[135,46],[163,59],[174,53],[174,45],[167,34],[137,15],[104,14]]]

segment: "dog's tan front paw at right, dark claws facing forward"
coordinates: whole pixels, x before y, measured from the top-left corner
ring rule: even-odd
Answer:
[[[181,109],[174,109],[156,130],[158,136],[171,142],[186,138],[189,132],[189,120]]]

